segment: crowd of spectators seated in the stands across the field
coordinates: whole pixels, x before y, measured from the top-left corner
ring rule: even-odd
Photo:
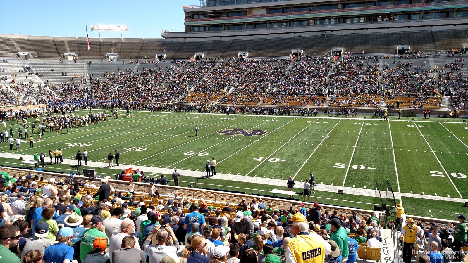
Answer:
[[[450,55],[454,52],[432,53]],[[427,54],[422,52],[408,52],[399,55],[398,59],[421,60],[425,56]],[[454,107],[467,108],[468,81],[461,72],[464,68],[462,57],[446,63],[441,69],[439,66],[433,69],[426,67],[425,60],[421,65],[413,66],[411,60],[397,62],[395,58],[393,65],[384,62],[381,72],[381,59],[377,57],[346,53],[336,61],[332,59],[329,55],[322,55],[294,59],[174,60],[170,64],[154,61],[151,62],[153,67],[142,67],[136,72],[127,68],[98,77],[92,75],[92,93],[87,75],[78,77],[75,74],[73,77],[79,80],[71,78],[60,84],[44,80],[44,87],[33,80],[12,84],[9,82],[14,81],[13,75],[2,76],[0,104],[17,104],[11,89],[16,85],[19,105],[49,103],[51,107],[73,110],[91,104],[104,108],[137,109],[139,104],[167,104],[176,100],[206,105],[211,109],[215,109],[216,104],[378,108],[381,106],[378,95],[381,95],[380,87],[383,85],[391,88],[384,93],[388,100],[397,100],[398,96],[414,97],[411,102],[402,102],[405,107],[440,107],[440,98],[452,95]],[[28,75],[23,70],[15,74]],[[380,76],[382,80],[379,83]],[[325,105],[327,95],[331,95],[329,105]]]

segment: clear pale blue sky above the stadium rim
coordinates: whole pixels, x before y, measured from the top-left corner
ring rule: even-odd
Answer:
[[[50,37],[98,37],[90,24],[126,25],[127,38],[161,38],[161,31],[184,31],[183,6],[199,0],[22,0],[1,1],[0,33]],[[101,37],[120,37],[101,31]]]

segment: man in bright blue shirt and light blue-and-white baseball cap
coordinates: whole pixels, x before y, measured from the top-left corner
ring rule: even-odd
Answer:
[[[69,262],[73,260],[73,247],[68,246],[72,240],[73,229],[71,227],[62,227],[59,234],[57,234],[57,244],[53,244],[44,251],[44,262],[63,263],[66,260]]]

